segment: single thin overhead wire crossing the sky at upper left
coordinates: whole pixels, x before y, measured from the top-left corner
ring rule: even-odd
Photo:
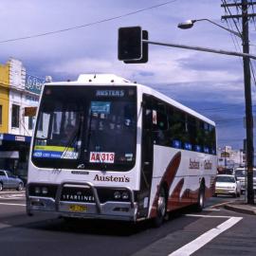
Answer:
[[[17,38],[2,40],[2,41],[0,41],[0,44],[14,42],[14,41],[20,41],[20,40],[27,40],[27,39],[32,39],[32,38],[36,38],[36,37],[42,37],[42,36],[57,34],[57,33],[63,33],[63,32],[69,31],[69,30],[79,29],[79,28],[82,28],[82,27],[90,27],[90,26],[98,25],[98,24],[101,24],[101,23],[104,23],[104,22],[109,22],[109,21],[117,20],[117,19],[120,19],[120,18],[123,18],[123,17],[135,15],[139,12],[146,11],[146,10],[149,10],[149,9],[156,9],[156,8],[159,8],[159,7],[162,7],[162,6],[167,6],[167,5],[172,4],[176,1],[178,1],[178,0],[168,1],[168,2],[161,3],[161,4],[158,4],[158,5],[155,5],[155,6],[144,8],[144,9],[137,9],[137,10],[134,10],[134,11],[131,11],[131,12],[128,12],[128,13],[124,13],[124,14],[119,15],[119,16],[114,16],[114,17],[111,17],[111,18],[106,18],[106,19],[102,19],[100,21],[91,22],[91,23],[87,23],[87,24],[82,24],[82,25],[78,25],[78,26],[74,26],[74,27],[66,27],[66,28],[63,28],[63,29],[48,31],[48,32],[45,32],[45,33],[39,33],[39,34],[28,35],[28,36],[24,36],[24,37],[17,37]]]

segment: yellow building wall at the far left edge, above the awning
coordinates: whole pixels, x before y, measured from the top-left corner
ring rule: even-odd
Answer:
[[[9,129],[9,64],[0,64],[0,134]]]

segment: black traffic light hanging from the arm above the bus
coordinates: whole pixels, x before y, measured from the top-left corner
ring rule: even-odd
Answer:
[[[141,27],[119,28],[119,60],[125,64],[139,64],[148,61],[148,32]]]

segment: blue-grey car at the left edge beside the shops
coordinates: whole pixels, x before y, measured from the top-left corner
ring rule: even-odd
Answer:
[[[23,181],[7,170],[0,170],[0,192],[3,189],[16,189],[21,191],[24,188]]]

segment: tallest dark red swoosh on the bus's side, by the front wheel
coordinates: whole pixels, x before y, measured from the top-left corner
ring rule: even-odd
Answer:
[[[153,201],[152,209],[150,212],[150,217],[156,216],[157,201],[158,201],[158,196],[159,196],[159,189],[161,188],[161,186],[166,184],[167,191],[169,192],[170,187],[174,182],[175,174],[177,173],[177,170],[179,168],[180,160],[181,160],[181,152],[178,152],[174,155],[173,159],[168,164],[168,166],[165,170],[165,173],[163,174],[161,181],[160,181],[159,185],[157,186],[157,190],[155,192],[155,199]]]

